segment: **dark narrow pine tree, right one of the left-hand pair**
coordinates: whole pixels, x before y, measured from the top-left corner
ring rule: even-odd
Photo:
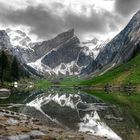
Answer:
[[[11,64],[11,78],[12,81],[19,80],[19,64],[15,56]]]

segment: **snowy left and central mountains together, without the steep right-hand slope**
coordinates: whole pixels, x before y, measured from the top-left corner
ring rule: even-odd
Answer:
[[[1,31],[0,41],[28,71],[37,75],[80,75],[105,46],[96,38],[80,43],[74,29],[34,43],[26,33],[7,28]]]

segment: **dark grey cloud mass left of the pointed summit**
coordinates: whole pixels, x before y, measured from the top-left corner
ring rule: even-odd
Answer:
[[[63,27],[60,17],[43,6],[28,6],[26,9],[18,10],[4,7],[0,10],[0,20],[7,25],[26,25],[30,27],[31,33],[40,38],[61,32]]]

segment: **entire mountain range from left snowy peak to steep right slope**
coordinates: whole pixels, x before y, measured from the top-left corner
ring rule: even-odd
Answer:
[[[74,29],[53,39],[33,43],[26,33],[6,29],[0,46],[6,48],[29,71],[42,75],[96,75],[132,59],[140,46],[140,11],[111,41],[97,38],[80,42]]]

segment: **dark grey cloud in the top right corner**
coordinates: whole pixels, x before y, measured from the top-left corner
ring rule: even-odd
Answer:
[[[122,16],[129,16],[140,10],[140,0],[115,0],[115,10]]]

